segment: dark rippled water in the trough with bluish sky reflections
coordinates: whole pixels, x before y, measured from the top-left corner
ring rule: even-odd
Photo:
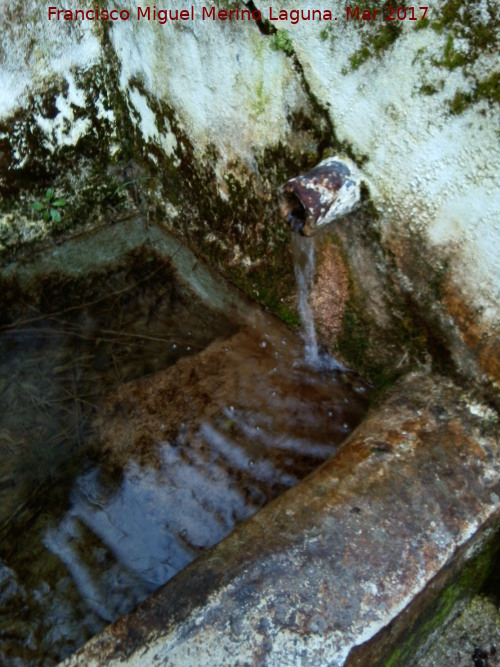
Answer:
[[[310,368],[300,338],[148,233],[102,268],[76,271],[72,246],[69,272],[44,265],[24,288],[26,267],[3,272],[2,665],[57,664],[367,409],[355,373]]]

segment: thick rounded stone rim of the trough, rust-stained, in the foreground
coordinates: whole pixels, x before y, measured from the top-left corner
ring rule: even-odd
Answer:
[[[495,418],[448,380],[406,378],[335,457],[64,664],[367,664],[349,654],[385,653],[398,615],[491,537]]]

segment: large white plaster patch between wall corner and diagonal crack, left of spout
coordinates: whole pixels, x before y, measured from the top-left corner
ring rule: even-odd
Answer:
[[[116,5],[130,7],[126,0]],[[138,77],[174,107],[200,153],[211,143],[224,163],[243,159],[252,166],[256,149],[286,140],[287,114],[306,98],[290,60],[269,48],[253,22],[203,21],[201,8],[211,5],[193,0],[193,21],[114,26],[120,83],[126,90]],[[169,9],[186,7],[168,3]],[[148,113],[141,115],[146,125]]]

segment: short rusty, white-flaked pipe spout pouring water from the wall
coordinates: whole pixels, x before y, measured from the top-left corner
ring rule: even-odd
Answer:
[[[281,186],[281,213],[293,232],[312,236],[357,208],[360,183],[354,162],[327,158]]]

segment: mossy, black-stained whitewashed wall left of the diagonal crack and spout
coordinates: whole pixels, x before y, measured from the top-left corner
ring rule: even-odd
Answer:
[[[139,211],[294,318],[275,193],[335,137],[286,54],[255,25],[67,24],[42,3],[10,3],[2,28],[4,78],[20,79],[0,104],[3,261]],[[31,210],[47,188],[66,200],[59,223]]]

